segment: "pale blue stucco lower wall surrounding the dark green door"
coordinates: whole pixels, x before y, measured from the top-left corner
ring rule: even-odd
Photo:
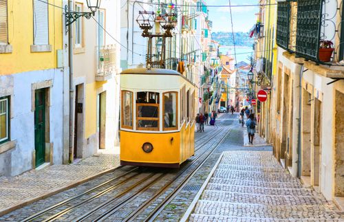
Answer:
[[[30,71],[10,76],[2,76],[3,82],[13,85],[11,97],[10,139],[17,140],[17,146],[11,151],[0,154],[10,157],[9,166],[0,164],[0,175],[19,175],[32,168],[34,151],[34,111],[32,111],[32,83],[52,80],[50,88],[50,143],[54,144],[52,164],[62,164],[63,153],[63,72],[59,69]],[[10,152],[10,155],[8,155]],[[2,163],[2,162],[1,162]],[[6,169],[5,169],[6,168]]]

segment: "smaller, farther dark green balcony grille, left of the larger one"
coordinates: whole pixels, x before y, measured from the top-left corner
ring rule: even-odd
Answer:
[[[289,49],[290,3],[281,1],[277,6],[277,45]]]

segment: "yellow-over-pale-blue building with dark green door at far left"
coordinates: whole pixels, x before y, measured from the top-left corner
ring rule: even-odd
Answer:
[[[63,162],[68,68],[58,7],[0,0],[0,176]]]

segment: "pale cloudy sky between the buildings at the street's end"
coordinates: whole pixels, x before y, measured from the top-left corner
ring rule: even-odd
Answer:
[[[205,0],[207,5],[229,5],[228,0]],[[259,0],[230,0],[231,5],[257,5]],[[209,19],[213,21],[211,32],[232,32],[229,7],[208,7]],[[257,21],[259,7],[233,7],[234,32],[248,32]]]

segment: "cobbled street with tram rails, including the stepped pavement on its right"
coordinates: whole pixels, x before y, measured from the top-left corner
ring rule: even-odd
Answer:
[[[237,118],[237,113],[224,113],[215,126],[206,126],[204,133],[196,133],[195,157],[210,154],[205,162],[200,162],[203,157],[192,157],[180,170],[118,168],[5,214],[0,221],[344,219],[333,203],[283,170],[272,156],[271,146],[243,146],[246,127],[239,126]],[[52,172],[41,170],[36,177],[46,173]],[[20,176],[18,179],[23,181]],[[39,187],[37,184],[36,189]],[[6,193],[6,188],[2,189]],[[13,192],[10,184],[7,190]],[[49,195],[48,190],[45,192]],[[77,198],[73,200],[74,197]],[[20,196],[14,192],[15,198]]]

